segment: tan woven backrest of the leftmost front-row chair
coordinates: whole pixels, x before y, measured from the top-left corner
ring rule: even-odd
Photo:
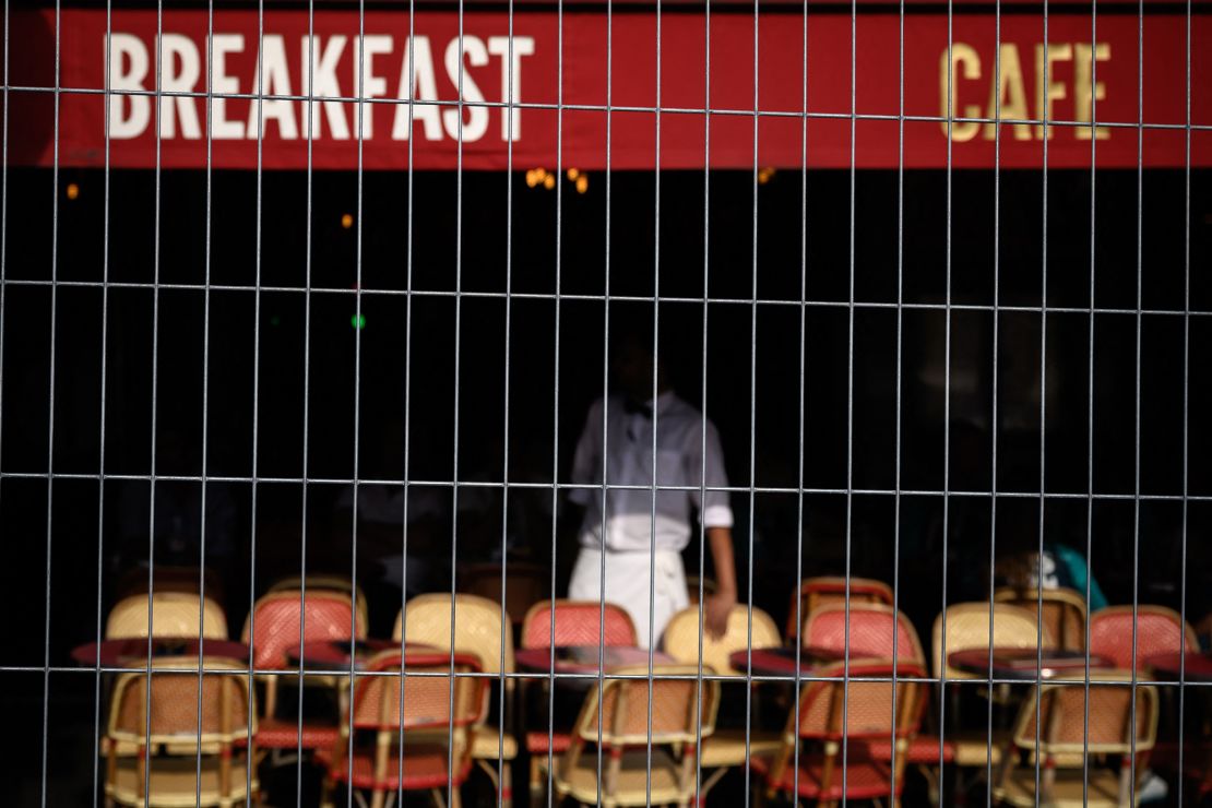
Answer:
[[[114,683],[108,735],[141,745],[171,743],[173,749],[248,738],[250,728],[253,734],[257,729],[256,710],[248,712],[248,677],[229,672],[241,669],[230,660],[204,658],[199,676],[198,657],[158,657],[150,674],[121,674]]]

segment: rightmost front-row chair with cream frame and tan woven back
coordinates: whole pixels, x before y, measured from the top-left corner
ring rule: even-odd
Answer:
[[[1139,804],[1148,757],[1140,752],[1153,749],[1156,735],[1157,690],[1133,687],[1128,671],[1091,671],[1088,723],[1085,684],[1045,683],[1023,704],[1016,722],[1013,744],[1023,763],[1002,761],[994,798],[1011,806],[1050,808]],[[1109,768],[1100,761],[1082,766],[1087,755],[1113,756],[1117,766]],[[1036,791],[1035,761],[1041,756]]]

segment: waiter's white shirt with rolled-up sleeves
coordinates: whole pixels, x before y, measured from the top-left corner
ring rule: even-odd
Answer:
[[[658,489],[654,523],[651,488],[607,489],[605,540],[600,488],[604,409],[607,485],[652,485],[652,429],[656,420],[657,486],[692,488]],[[622,396],[611,396],[606,400],[605,407],[600,399],[594,402],[572,459],[572,482],[587,486],[574,488],[568,494],[568,499],[585,508],[585,518],[581,528],[583,546],[605,545],[608,551],[647,552],[652,546],[654,533],[657,550],[681,551],[690,543],[691,518],[694,511],[698,512],[704,527],[732,527],[728,492],[707,491],[703,502],[699,500],[699,486],[720,488],[728,485],[720,436],[711,422],[673,392],[664,392],[657,397],[654,419],[646,412],[628,412]],[[591,486],[599,488],[595,491]]]

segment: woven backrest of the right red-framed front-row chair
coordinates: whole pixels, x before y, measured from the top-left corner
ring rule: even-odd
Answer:
[[[908,738],[921,720],[925,667],[916,661],[894,664],[891,659],[851,661],[848,681],[844,663],[816,671],[824,681],[813,681],[800,692],[799,727],[795,714],[788,737],[840,740],[845,738]],[[897,677],[893,687],[892,677]],[[867,681],[864,681],[867,680]],[[893,709],[894,707],[894,709]]]

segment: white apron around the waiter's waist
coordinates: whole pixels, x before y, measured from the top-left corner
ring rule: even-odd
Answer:
[[[669,619],[690,606],[686,571],[681,554],[657,550],[651,555],[608,550],[606,557],[606,601],[627,609],[635,623],[640,646],[648,648],[659,640]],[[572,568],[568,597],[574,601],[600,601],[602,551],[581,548]],[[654,573],[654,578],[650,577]],[[652,637],[648,636],[648,604],[652,603]]]

